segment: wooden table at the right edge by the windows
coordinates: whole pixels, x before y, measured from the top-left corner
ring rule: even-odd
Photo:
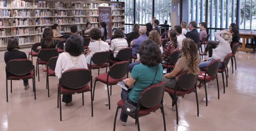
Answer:
[[[249,31],[249,30],[247,30],[247,31],[240,30],[239,35],[243,39],[243,42],[242,42],[242,47],[237,50],[245,51],[245,52],[253,52],[253,49],[246,49],[245,45],[246,45],[246,39],[254,38],[256,36],[256,33],[254,33],[254,31],[252,33],[252,31]]]

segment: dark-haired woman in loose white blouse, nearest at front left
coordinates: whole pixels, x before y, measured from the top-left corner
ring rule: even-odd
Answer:
[[[66,70],[88,68],[85,56],[83,54],[82,42],[77,35],[67,39],[65,44],[65,52],[58,57],[55,75],[58,79]],[[63,95],[62,102],[66,104],[72,102],[72,95]]]

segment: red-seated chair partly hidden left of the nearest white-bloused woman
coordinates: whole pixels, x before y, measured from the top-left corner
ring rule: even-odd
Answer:
[[[53,58],[49,59],[47,64],[47,72],[46,72],[46,89],[48,89],[48,97],[50,97],[49,91],[49,77],[55,77],[55,66],[57,63],[58,56],[54,56]]]

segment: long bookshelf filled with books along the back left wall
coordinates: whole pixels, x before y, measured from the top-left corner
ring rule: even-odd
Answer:
[[[11,36],[19,37],[20,47],[31,47],[40,42],[44,29],[54,23],[61,26],[61,33],[69,33],[74,24],[82,31],[86,22],[98,27],[98,6],[103,3],[112,8],[112,31],[124,29],[125,4],[122,2],[0,0],[0,50],[6,50]]]

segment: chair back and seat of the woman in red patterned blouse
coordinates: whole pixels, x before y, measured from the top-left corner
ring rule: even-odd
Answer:
[[[167,69],[173,69],[175,64],[177,63],[178,59],[180,58],[181,50],[175,50],[168,58],[167,63],[170,64],[165,64],[163,63],[162,66],[163,68]]]

